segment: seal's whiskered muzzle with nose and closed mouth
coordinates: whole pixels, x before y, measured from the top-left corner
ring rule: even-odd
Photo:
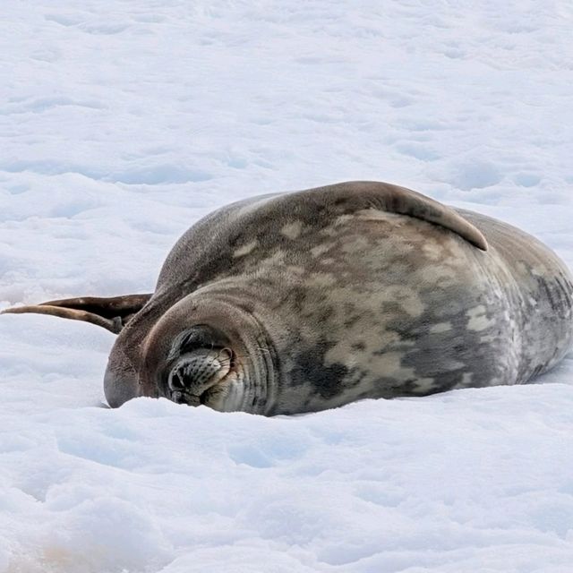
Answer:
[[[235,369],[230,348],[198,348],[180,355],[168,376],[169,396],[177,404],[210,404],[227,388]]]

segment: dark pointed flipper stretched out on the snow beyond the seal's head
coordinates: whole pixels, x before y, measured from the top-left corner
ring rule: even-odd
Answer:
[[[36,312],[51,314],[73,321],[86,321],[118,334],[129,322],[133,315],[140,312],[144,304],[151,298],[146,295],[124,295],[100,298],[96,296],[81,296],[65,298],[57,301],[47,301],[29,306],[14,306],[4,309],[3,313],[21,314]]]

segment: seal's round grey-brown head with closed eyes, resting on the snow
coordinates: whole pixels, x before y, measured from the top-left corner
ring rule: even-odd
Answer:
[[[200,290],[170,307],[150,329],[137,368],[139,395],[222,412],[261,412],[269,403],[265,381],[274,375],[273,354],[251,312]]]

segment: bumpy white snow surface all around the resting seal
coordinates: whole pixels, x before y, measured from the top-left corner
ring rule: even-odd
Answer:
[[[0,10],[0,306],[149,292],[229,201],[350,179],[573,267],[573,4]],[[2,573],[571,573],[573,354],[540,384],[314,415],[101,407],[113,335],[0,317]]]

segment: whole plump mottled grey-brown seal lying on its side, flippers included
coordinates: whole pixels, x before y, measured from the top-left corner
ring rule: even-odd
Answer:
[[[571,346],[573,279],[516,227],[354,182],[215,211],[175,244],[152,295],[4,312],[117,332],[110,406],[297,414],[530,381]]]

